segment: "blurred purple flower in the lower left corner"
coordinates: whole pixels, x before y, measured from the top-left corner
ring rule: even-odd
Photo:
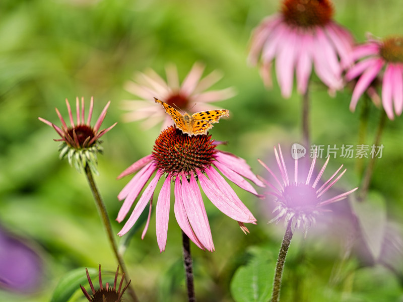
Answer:
[[[0,227],[0,287],[19,293],[38,290],[43,278],[40,256]]]

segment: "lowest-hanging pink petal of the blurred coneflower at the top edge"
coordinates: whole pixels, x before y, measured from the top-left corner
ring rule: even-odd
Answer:
[[[276,74],[284,98],[289,98],[293,90],[296,42],[297,34],[294,29],[284,35],[282,44],[279,45],[277,51]]]

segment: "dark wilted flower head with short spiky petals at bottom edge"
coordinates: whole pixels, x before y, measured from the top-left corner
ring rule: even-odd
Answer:
[[[99,265],[99,289],[95,290],[94,285],[92,284],[90,274],[88,273],[88,269],[85,269],[87,273],[87,279],[88,283],[90,283],[90,287],[92,290],[92,295],[87,292],[87,290],[84,288],[83,285],[80,284],[81,290],[83,291],[84,295],[87,297],[87,299],[90,302],[120,302],[122,300],[122,295],[124,291],[126,290],[127,286],[129,286],[130,281],[123,287],[122,289],[122,284],[124,280],[124,272],[122,275],[122,279],[120,280],[119,287],[116,290],[116,281],[117,281],[117,276],[119,274],[119,266],[117,266],[116,274],[115,274],[115,280],[113,282],[113,287],[109,286],[109,283],[106,282],[105,287],[102,285],[102,277],[101,277],[101,264]]]

